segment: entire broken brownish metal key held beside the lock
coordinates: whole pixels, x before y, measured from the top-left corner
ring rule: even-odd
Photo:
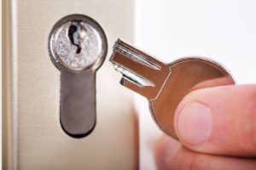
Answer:
[[[120,39],[113,46],[110,61],[123,75],[120,84],[148,99],[154,121],[173,139],[177,139],[173,116],[186,94],[235,84],[229,71],[211,59],[189,57],[165,64]]]

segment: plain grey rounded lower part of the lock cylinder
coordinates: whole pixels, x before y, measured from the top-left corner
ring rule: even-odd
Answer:
[[[60,121],[63,130],[83,138],[96,126],[95,71],[61,71]]]

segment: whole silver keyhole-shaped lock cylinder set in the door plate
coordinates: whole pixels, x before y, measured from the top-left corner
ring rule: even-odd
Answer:
[[[59,20],[49,34],[49,54],[61,71],[61,127],[83,138],[96,126],[96,69],[106,58],[107,37],[82,14]]]

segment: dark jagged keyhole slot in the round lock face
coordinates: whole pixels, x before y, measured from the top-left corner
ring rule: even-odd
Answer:
[[[86,29],[81,25],[81,22],[73,22],[73,24],[69,26],[68,37],[70,42],[77,47],[76,54],[80,54],[82,50],[81,43],[84,42],[86,37]]]

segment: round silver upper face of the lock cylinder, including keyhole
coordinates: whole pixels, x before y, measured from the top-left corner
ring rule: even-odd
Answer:
[[[107,52],[107,38],[102,27],[90,17],[68,15],[52,29],[49,50],[58,68],[84,71],[102,63]]]

